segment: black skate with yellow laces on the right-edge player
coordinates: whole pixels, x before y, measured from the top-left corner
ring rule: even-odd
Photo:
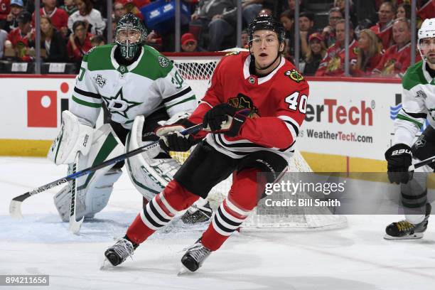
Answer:
[[[423,232],[429,223],[429,215],[431,214],[431,204],[426,204],[426,216],[424,220],[417,225],[413,225],[407,220],[393,222],[385,229],[385,240],[411,240],[421,239]]]

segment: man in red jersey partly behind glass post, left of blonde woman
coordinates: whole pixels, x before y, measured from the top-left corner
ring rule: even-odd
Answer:
[[[335,44],[328,48],[326,56],[318,66],[316,76],[342,76],[345,65],[345,20],[341,19],[335,26],[337,35]],[[358,41],[353,39],[353,24],[349,23],[349,61],[350,65],[356,63],[358,53]]]

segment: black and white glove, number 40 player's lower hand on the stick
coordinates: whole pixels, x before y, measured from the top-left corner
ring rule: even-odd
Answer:
[[[192,135],[182,135],[180,131],[186,127],[192,127],[194,124],[183,121],[183,124],[171,124],[156,129],[156,135],[160,137],[159,144],[165,151],[185,152],[200,140],[195,139]],[[186,126],[186,127],[185,127]]]

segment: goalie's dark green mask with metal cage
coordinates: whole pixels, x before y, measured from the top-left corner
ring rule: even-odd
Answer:
[[[138,17],[126,14],[119,19],[115,28],[115,43],[121,51],[122,58],[134,58],[145,38],[146,28]]]

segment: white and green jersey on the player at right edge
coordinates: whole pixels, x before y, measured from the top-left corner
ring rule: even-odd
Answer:
[[[394,121],[394,144],[412,145],[426,118],[435,128],[435,79],[420,61],[408,68],[402,80],[402,109]]]

